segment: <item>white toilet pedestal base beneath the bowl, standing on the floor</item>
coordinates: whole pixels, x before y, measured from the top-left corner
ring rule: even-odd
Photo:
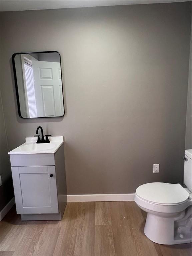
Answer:
[[[191,242],[191,207],[175,216],[147,213],[145,235],[158,244],[184,244]]]

